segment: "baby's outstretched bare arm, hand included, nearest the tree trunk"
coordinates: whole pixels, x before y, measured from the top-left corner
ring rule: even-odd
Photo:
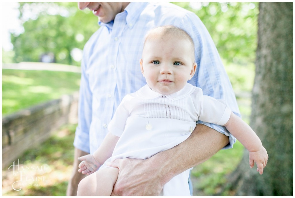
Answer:
[[[253,168],[256,163],[257,171],[262,174],[263,168],[267,164],[268,155],[256,133],[233,112],[224,126],[249,151],[250,168]]]

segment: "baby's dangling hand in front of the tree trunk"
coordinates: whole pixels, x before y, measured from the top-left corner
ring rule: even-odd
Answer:
[[[255,162],[257,166],[257,172],[259,172],[260,175],[263,173],[263,168],[266,166],[267,160],[267,151],[263,146],[261,146],[260,150],[258,151],[249,152],[250,168],[253,168]]]

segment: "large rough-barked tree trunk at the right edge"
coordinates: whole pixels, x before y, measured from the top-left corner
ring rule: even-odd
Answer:
[[[229,182],[236,195],[293,195],[293,2],[259,4],[250,126],[268,151],[262,175],[248,151]],[[256,166],[256,165],[255,165]]]

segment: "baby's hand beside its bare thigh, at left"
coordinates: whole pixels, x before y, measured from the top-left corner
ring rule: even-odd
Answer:
[[[93,155],[86,155],[79,157],[78,160],[81,161],[79,164],[78,172],[86,175],[90,175],[97,171],[101,164],[95,160]]]

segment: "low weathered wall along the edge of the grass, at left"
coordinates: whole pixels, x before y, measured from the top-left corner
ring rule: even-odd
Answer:
[[[2,117],[2,168],[67,123],[78,122],[78,92]]]

